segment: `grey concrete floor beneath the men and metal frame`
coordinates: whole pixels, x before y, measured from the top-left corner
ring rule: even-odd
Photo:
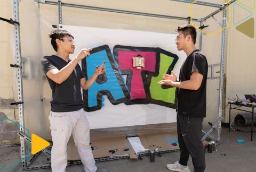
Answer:
[[[250,128],[243,128],[245,131],[250,131]],[[244,143],[237,143],[236,139],[245,140]],[[221,142],[218,151],[213,153],[205,153],[206,158],[206,169],[207,172],[216,171],[256,171],[256,134],[254,133],[253,141],[251,139],[251,133],[242,132],[230,132],[228,133],[227,128],[222,128]],[[18,160],[19,147],[1,147],[0,148],[0,165],[6,164],[7,162]],[[155,162],[151,163],[149,157],[143,157],[142,160],[134,159],[121,159],[97,162],[97,167],[108,169],[110,172],[117,171],[137,171],[137,172],[156,172],[156,171],[170,171],[166,168],[166,164],[170,164],[179,159],[180,152],[164,153],[162,157],[155,157]],[[226,156],[225,156],[226,154]],[[42,158],[42,157],[41,157]],[[36,163],[36,162],[35,162]],[[9,163],[7,163],[9,164]],[[190,170],[193,171],[193,164],[191,158],[188,163]],[[0,171],[22,171],[21,164],[12,167],[8,170],[0,169]],[[33,170],[36,172],[51,171],[51,169],[40,169]],[[84,171],[83,165],[68,166],[66,169],[69,171]]]

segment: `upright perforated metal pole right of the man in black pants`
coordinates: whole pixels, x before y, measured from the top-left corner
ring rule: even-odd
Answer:
[[[227,8],[223,9],[223,18],[227,18]],[[226,20],[222,22],[223,28],[226,27]],[[223,78],[224,78],[224,59],[225,59],[225,45],[226,45],[226,29],[222,30],[222,40],[221,40],[221,58],[220,58],[220,85],[219,85],[219,115],[222,116],[222,93],[223,93]],[[220,132],[221,132],[221,123],[219,123],[218,127],[218,142],[220,141]]]

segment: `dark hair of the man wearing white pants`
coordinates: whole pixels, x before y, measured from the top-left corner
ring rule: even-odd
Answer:
[[[69,36],[74,39],[73,35],[69,33],[66,30],[61,30],[61,29],[54,29],[49,33],[49,37],[51,38],[51,44],[53,49],[57,52],[57,44],[56,44],[56,39],[61,39],[64,38],[65,36]]]

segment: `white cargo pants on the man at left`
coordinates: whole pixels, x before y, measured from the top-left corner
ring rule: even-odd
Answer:
[[[51,166],[53,172],[65,172],[67,166],[67,143],[71,134],[86,172],[97,167],[90,147],[90,126],[84,109],[65,113],[51,111],[49,116],[53,147]]]

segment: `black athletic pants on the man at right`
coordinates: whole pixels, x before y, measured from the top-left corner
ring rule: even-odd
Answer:
[[[195,172],[203,172],[205,169],[204,148],[201,142],[202,122],[203,118],[184,117],[177,114],[179,163],[187,166],[190,154]]]

